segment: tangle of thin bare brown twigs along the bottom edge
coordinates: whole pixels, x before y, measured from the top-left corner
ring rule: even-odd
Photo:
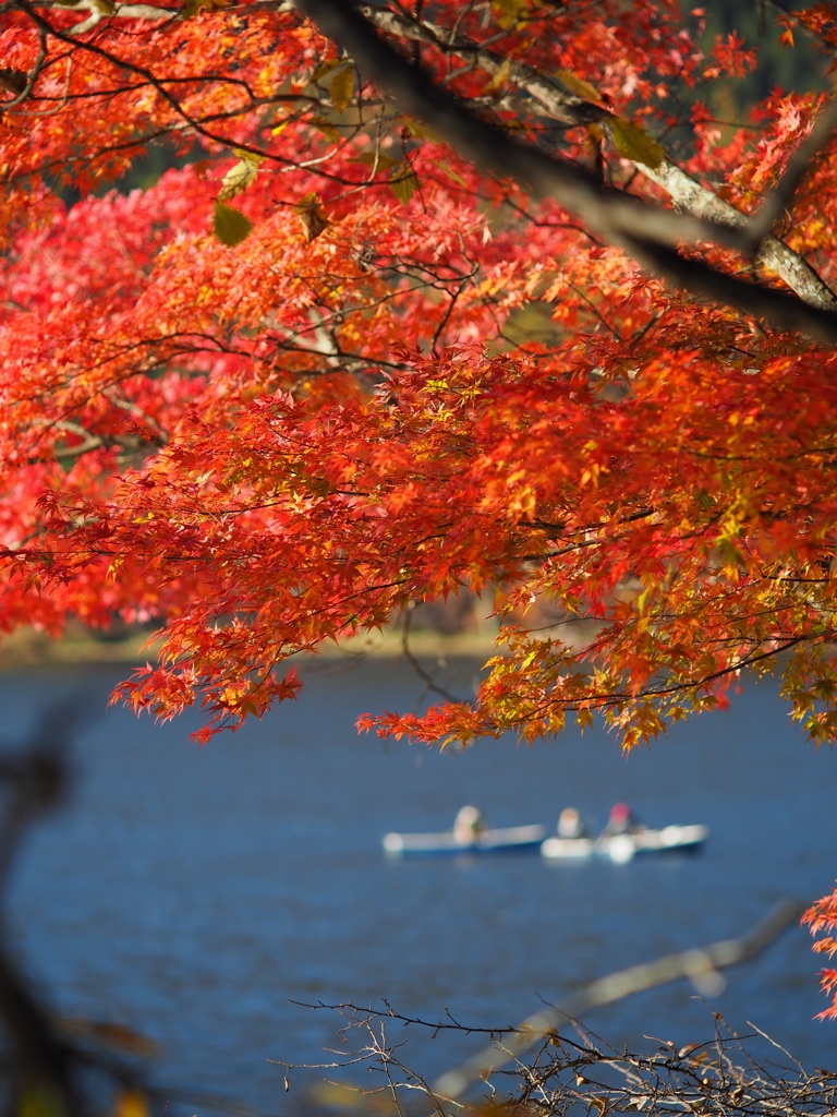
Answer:
[[[386,1012],[350,1004],[321,1008],[335,1009],[347,1021],[341,1029],[344,1033],[359,1029],[366,1039],[362,1049],[339,1061],[321,1065],[320,1069],[343,1071],[365,1065],[368,1070],[381,1073],[386,1082],[383,1088],[364,1090],[333,1081],[330,1087],[336,1092],[329,1095],[331,1102],[340,1106],[340,1091],[345,1091],[347,1107],[357,1109],[357,1095],[362,1095],[367,1098],[371,1111],[386,1117],[397,1117],[405,1111],[426,1117],[429,1107],[439,1117],[451,1113],[481,1111],[463,1101],[437,1095],[435,1087],[404,1065],[398,1049],[404,1047],[405,1041],[402,1039],[393,1043],[386,1037],[387,1021],[419,1025],[432,1034],[441,1027],[459,1028],[462,1032],[471,1029],[458,1025],[455,1021],[452,1024],[434,1024],[403,1016],[388,1005]],[[485,1085],[498,1111],[529,1114],[531,1117],[578,1117],[585,1111],[588,1115],[595,1111],[598,1117],[631,1111],[642,1111],[646,1117],[672,1117],[672,1114],[700,1117],[834,1117],[837,1076],[819,1068],[808,1072],[780,1044],[753,1025],[753,1033],[781,1051],[792,1066],[776,1068],[763,1059],[757,1060],[743,1042],[752,1039],[752,1034],[737,1034],[718,1013],[713,1013],[713,1020],[714,1037],[708,1042],[690,1043],[679,1050],[667,1040],[657,1040],[656,1051],[643,1054],[626,1049],[617,1051],[575,1022],[577,1040],[550,1032],[532,1056],[526,1061],[517,1060],[510,1070],[502,1072],[509,1080],[509,1096],[503,1098],[499,1083],[494,1081]],[[385,1105],[387,1094],[393,1099],[398,1095],[401,1097]]]

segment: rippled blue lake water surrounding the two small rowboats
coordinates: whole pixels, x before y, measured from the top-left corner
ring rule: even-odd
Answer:
[[[477,667],[452,665],[451,685],[466,688]],[[323,1075],[295,1073],[286,1095],[268,1060],[325,1061],[339,1021],[294,1002],[386,997],[408,1014],[512,1024],[541,996],[743,934],[781,898],[811,900],[837,876],[837,754],[799,737],[772,684],[627,757],[600,732],[439,754],[355,733],[359,713],[412,707],[421,685],[407,668],[323,663],[304,675],[299,701],[202,751],[187,739],[195,718],[155,726],[106,709],[114,670],[0,677],[7,744],[25,739],[51,697],[76,694],[90,712],[73,801],[16,869],[21,952],[62,1013],[152,1038],[151,1076],[173,1089],[299,1108]],[[651,825],[705,823],[710,841],[696,856],[623,866],[392,862],[381,851],[385,831],[445,829],[465,802],[497,825],[552,827],[567,804],[603,824],[616,800]],[[837,1025],[811,1019],[825,1006],[817,968],[795,927],[728,971],[712,1008],[835,1067]],[[702,1042],[713,1029],[685,981],[587,1023],[635,1048],[653,1046],[644,1035]],[[401,1056],[432,1077],[479,1046],[416,1035]]]

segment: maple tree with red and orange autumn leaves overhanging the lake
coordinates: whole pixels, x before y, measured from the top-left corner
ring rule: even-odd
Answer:
[[[205,741],[295,696],[300,651],[491,588],[475,697],[366,728],[599,714],[631,747],[751,670],[834,741],[824,94],[722,127],[753,52],[674,0],[0,17],[6,631],[158,621],[119,694],[202,704]],[[825,66],[837,6],[781,31]],[[113,189],[160,144],[185,165]],[[536,598],[596,634],[530,630]]]

